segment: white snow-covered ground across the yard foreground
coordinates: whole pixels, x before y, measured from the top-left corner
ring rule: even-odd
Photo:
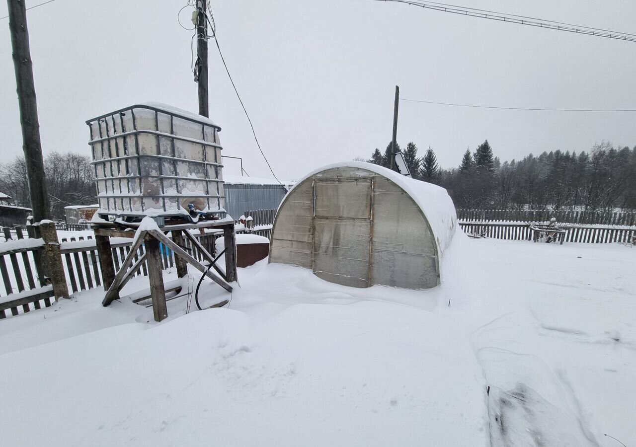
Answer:
[[[0,322],[2,444],[634,445],[635,261],[459,232],[429,291],[261,261],[228,308],[181,297],[160,324],[126,296],[145,278],[81,292]]]

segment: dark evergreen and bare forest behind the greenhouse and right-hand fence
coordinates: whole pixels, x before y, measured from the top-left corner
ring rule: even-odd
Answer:
[[[375,149],[370,163],[389,167],[391,146]],[[432,148],[418,155],[413,142],[401,150],[413,177],[448,190],[457,208],[470,209],[636,209],[636,146],[603,142],[590,151],[543,152],[501,162],[488,140],[466,149],[459,165],[440,168]]]

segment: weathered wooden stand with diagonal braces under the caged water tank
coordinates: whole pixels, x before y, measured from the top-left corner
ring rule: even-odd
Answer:
[[[218,228],[219,230],[223,230],[225,246],[228,247],[225,254],[225,272],[221,272],[221,270],[214,265],[212,254],[188,231],[197,228]],[[102,305],[104,306],[110,305],[115,299],[119,298],[119,293],[123,286],[127,284],[128,280],[134,276],[145,261],[148,263],[148,279],[150,282],[150,294],[155,321],[161,321],[168,316],[165,300],[165,285],[163,284],[160,244],[165,245],[165,247],[168,247],[174,252],[177,275],[179,275],[180,278],[188,274],[188,264],[190,264],[199,272],[204,273],[209,279],[216,282],[216,284],[223,287],[223,289],[232,292],[232,285],[228,283],[237,279],[236,236],[233,221],[207,221],[197,224],[168,225],[160,228],[160,230],[142,230],[139,235],[136,235],[134,231],[123,231],[114,225],[105,227],[104,224],[97,224],[93,229],[97,240],[97,251],[99,252],[102,277],[104,278],[104,288],[106,289],[106,295],[102,301]],[[172,238],[164,234],[164,232],[169,231],[172,232]],[[111,245],[109,242],[109,237],[114,236],[135,237],[135,242],[132,247],[130,247],[130,252],[128,252],[128,256],[123,261],[117,273],[114,273]],[[197,247],[197,250],[202,254],[203,258],[215,267],[220,277],[211,272],[207,266],[202,265],[202,263],[184,250],[184,237]],[[146,254],[134,262],[135,256],[137,256],[137,250],[141,244],[144,244]],[[227,303],[227,300],[219,303],[219,305],[225,305],[224,303]]]

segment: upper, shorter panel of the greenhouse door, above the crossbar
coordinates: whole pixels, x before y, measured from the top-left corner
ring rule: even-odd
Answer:
[[[371,217],[371,179],[315,180],[314,194],[316,217]]]

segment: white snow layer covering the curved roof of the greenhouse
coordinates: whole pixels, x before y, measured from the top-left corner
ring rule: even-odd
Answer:
[[[296,182],[296,185],[301,184],[303,180],[324,170],[347,167],[370,170],[371,172],[387,177],[387,179],[404,189],[404,192],[413,198],[429,221],[440,254],[448,248],[457,227],[457,211],[448,192],[446,192],[445,188],[441,188],[441,186],[404,177],[404,175],[391,169],[367,162],[340,162],[323,166],[305,175],[305,177]],[[287,194],[291,194],[293,190],[294,188],[291,188]]]

